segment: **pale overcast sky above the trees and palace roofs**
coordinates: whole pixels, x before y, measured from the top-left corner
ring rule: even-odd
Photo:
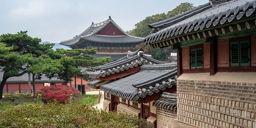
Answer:
[[[132,30],[145,17],[184,2],[198,6],[208,0],[2,0],[0,34],[28,30],[29,36],[60,43],[108,16],[124,31]]]

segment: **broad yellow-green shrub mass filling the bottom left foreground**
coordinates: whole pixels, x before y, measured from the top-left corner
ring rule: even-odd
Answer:
[[[126,113],[106,112],[75,103],[19,105],[0,114],[7,128],[150,128],[152,123]]]

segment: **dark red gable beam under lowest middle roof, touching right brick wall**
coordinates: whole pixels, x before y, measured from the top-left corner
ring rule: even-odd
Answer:
[[[153,95],[151,96],[147,96],[145,98],[139,98],[137,101],[138,103],[142,104],[142,103],[149,103],[151,101],[154,101],[154,100],[157,100],[160,98],[160,94],[162,92],[169,92],[169,93],[173,93],[173,92],[177,92],[177,87],[176,86],[172,86],[171,88],[166,88],[165,90],[160,90],[159,92],[157,93],[154,93]]]

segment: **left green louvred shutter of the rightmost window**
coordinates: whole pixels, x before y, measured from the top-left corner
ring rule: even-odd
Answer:
[[[239,66],[239,41],[231,42],[231,66]],[[248,48],[248,47],[247,47]]]

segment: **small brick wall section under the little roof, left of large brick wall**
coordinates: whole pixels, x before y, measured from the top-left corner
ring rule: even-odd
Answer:
[[[173,121],[177,118],[176,111],[156,107],[157,128],[173,128]]]

